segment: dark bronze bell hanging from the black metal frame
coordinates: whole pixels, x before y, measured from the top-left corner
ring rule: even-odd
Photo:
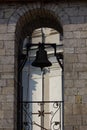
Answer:
[[[44,50],[44,45],[39,44],[39,50],[36,52],[36,59],[32,62],[32,66],[43,69],[51,65],[52,63],[47,58],[47,52]]]

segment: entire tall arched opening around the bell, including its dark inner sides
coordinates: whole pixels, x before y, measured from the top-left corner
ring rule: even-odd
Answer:
[[[56,50],[58,49],[57,53],[63,52],[61,47],[61,37],[63,36],[63,30],[57,17],[54,16],[52,13],[50,13],[50,11],[34,10],[30,13],[29,12],[26,13],[25,17],[28,17],[28,19],[23,20],[24,16],[21,17],[17,24],[17,29],[16,29],[16,38],[18,40],[18,46],[19,46],[18,47],[19,49],[18,50],[18,56],[19,56],[18,57],[18,81],[21,84],[18,86],[18,103],[17,103],[18,104],[17,106],[18,130],[21,129],[43,130],[43,129],[53,129],[53,128],[62,130],[63,117],[61,112],[63,111],[62,110],[63,107],[61,105],[61,102],[63,100],[63,96],[62,96],[62,80],[61,80],[62,69],[60,66],[60,64],[62,64],[61,63],[62,61],[58,61],[57,59],[58,57],[55,58],[53,56],[53,53],[55,53],[54,48],[47,46],[46,50],[48,52],[48,57],[49,60],[53,63],[53,65],[51,68],[48,67],[44,69],[44,92],[45,92],[44,104],[46,104],[46,106],[44,105],[44,110],[42,110],[43,109],[42,108],[43,76],[40,68],[34,68],[31,66],[31,63],[35,58],[37,47],[35,46],[29,48],[29,50],[27,51],[26,45],[30,45],[30,44],[33,45],[33,42],[37,44],[39,44],[39,42],[42,43],[44,41],[43,37],[41,33],[38,36],[38,32],[40,32],[40,30],[43,28],[46,34],[45,44],[47,42],[50,44],[56,42]],[[21,22],[23,22],[23,24],[21,24],[22,26],[20,26]],[[28,41],[26,41],[26,39]],[[26,51],[28,53],[26,53]],[[56,76],[53,73],[56,73]],[[56,87],[57,80],[60,86],[59,88]],[[48,88],[46,88],[45,86],[48,86]],[[59,91],[58,94],[60,94],[60,96],[58,96],[57,91]],[[35,105],[37,103],[37,105],[35,106],[34,103]],[[53,111],[52,105],[53,108],[56,109],[56,111]],[[55,121],[54,121],[53,120],[54,115],[55,113],[57,113],[58,110],[60,111],[58,115],[55,117]],[[37,117],[30,116],[32,114],[37,115],[37,117],[39,116],[41,118],[37,119]],[[47,114],[47,116],[45,114]],[[61,120],[60,118],[62,119],[62,122],[60,122]],[[38,122],[36,122],[36,120],[38,120]]]

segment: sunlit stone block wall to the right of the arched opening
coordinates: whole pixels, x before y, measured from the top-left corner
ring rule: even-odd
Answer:
[[[87,129],[87,24],[64,26],[65,130]]]

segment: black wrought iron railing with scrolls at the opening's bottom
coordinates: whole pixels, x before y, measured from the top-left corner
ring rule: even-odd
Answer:
[[[63,130],[62,101],[23,102],[23,130]]]

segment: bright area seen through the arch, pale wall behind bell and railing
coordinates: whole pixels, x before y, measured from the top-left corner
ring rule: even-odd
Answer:
[[[28,43],[29,36],[23,42],[23,54],[26,53]],[[60,34],[52,28],[35,29],[31,43],[34,46],[31,45],[27,61],[22,69],[23,129],[63,130],[62,68],[51,46],[56,43],[56,53],[61,53],[63,56]],[[42,52],[39,49],[40,52],[36,56],[37,44],[43,43],[45,49]],[[44,51],[47,52],[47,57]]]

